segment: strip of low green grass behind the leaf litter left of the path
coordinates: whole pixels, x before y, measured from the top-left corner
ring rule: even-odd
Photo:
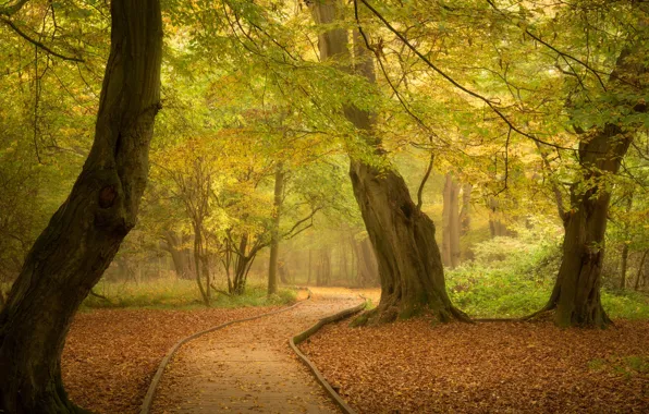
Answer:
[[[142,283],[100,281],[94,291],[109,301],[88,295],[82,304],[82,309],[106,307],[194,309],[205,307],[198,287],[192,280],[163,278]],[[226,296],[215,292],[212,294],[210,306],[220,308],[284,305],[294,303],[297,296],[292,289],[280,289],[277,294],[268,296],[262,282],[249,282],[246,293],[240,296]]]

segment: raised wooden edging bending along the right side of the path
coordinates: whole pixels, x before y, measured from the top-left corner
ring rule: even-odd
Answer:
[[[363,297],[363,299],[365,299],[365,297]],[[302,342],[306,341],[309,337],[311,337],[317,331],[319,331],[320,328],[322,328],[324,325],[338,322],[340,320],[346,319],[346,318],[348,318],[351,316],[354,316],[357,313],[362,312],[363,309],[366,308],[367,303],[368,303],[367,300],[365,300],[365,302],[362,303],[360,305],[351,307],[348,309],[339,312],[338,314],[334,314],[334,315],[328,316],[326,318],[322,318],[316,325],[314,325],[313,327],[310,327],[307,330],[305,330],[305,331],[296,334],[295,337],[289,339],[289,345],[291,346],[291,349],[293,350],[293,352],[295,352],[295,354],[297,354],[297,356],[299,357],[299,360],[311,370],[311,373],[314,374],[314,376],[316,377],[316,379],[318,380],[318,382],[320,382],[320,385],[322,386],[322,388],[324,388],[324,390],[327,391],[327,393],[333,399],[333,401],[335,402],[335,404],[345,414],[356,414],[356,412],[354,411],[354,409],[352,409],[350,405],[347,405],[347,403],[345,402],[345,400],[343,400],[343,398],[340,397],[340,394],[338,392],[335,392],[335,390],[331,387],[331,385],[327,381],[327,379],[324,379],[324,376],[322,376],[322,374],[316,367],[316,365],[305,354],[303,354],[302,351],[299,351],[299,349],[297,348],[297,345],[301,344]]]

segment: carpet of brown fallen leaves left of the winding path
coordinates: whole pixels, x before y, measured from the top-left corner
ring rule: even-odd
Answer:
[[[137,413],[158,364],[194,332],[277,307],[78,314],[62,357],[70,398],[97,413]]]

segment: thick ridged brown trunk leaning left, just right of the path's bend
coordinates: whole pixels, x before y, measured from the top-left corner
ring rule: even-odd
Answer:
[[[310,7],[317,24],[331,26],[340,20],[342,4],[336,0],[310,2]],[[355,46],[355,71],[375,83],[374,63],[357,32]],[[329,27],[319,35],[318,47],[321,60],[348,60],[344,28]],[[371,114],[347,106],[345,115],[378,150],[380,139],[372,132]],[[446,294],[434,226],[413,203],[401,175],[393,170],[379,171],[356,159],[351,161],[350,175],[381,279],[381,301],[364,318],[370,322],[391,321],[396,316],[408,317],[429,309],[441,320],[466,319]]]

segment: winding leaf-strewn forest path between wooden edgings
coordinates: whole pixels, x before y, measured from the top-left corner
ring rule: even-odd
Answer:
[[[358,305],[341,288],[311,288],[295,308],[229,326],[183,345],[162,376],[152,413],[338,413],[289,348],[290,337]]]

